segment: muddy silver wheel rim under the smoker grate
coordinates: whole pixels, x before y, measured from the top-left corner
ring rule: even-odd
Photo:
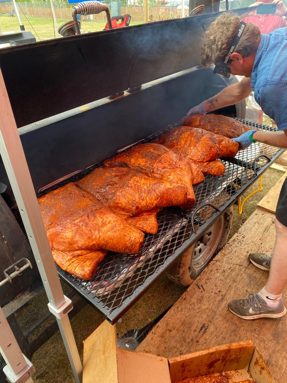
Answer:
[[[224,215],[203,234],[194,245],[191,267],[200,270],[204,267],[217,249],[224,231]]]

